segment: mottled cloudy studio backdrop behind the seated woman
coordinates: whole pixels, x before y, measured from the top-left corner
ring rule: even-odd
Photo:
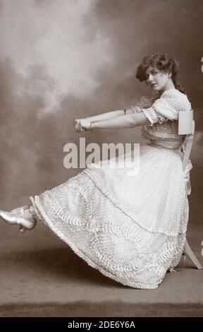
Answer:
[[[75,134],[73,120],[133,105],[147,54],[180,62],[195,110],[192,191],[202,194],[202,0],[1,0],[1,208],[77,174],[68,142],[140,142],[140,128]]]

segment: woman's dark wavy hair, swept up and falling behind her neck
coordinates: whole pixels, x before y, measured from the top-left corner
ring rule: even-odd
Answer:
[[[171,79],[173,81],[173,84],[175,85],[175,88],[181,93],[185,93],[185,90],[180,86],[180,83],[178,83],[177,81],[179,64],[176,59],[169,57],[168,54],[156,53],[152,55],[147,55],[147,57],[144,57],[144,59],[142,60],[140,66],[137,67],[136,78],[140,82],[147,81],[146,70],[149,66],[154,66],[157,69],[168,73],[171,72]]]

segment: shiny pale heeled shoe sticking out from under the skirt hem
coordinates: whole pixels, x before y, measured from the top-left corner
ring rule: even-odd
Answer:
[[[30,218],[25,219],[24,211],[28,209],[29,206],[21,206],[20,208],[15,208],[12,211],[1,211],[0,210],[0,217],[6,221],[9,225],[19,225],[20,232],[25,232],[25,230],[32,230],[37,220],[30,216]]]

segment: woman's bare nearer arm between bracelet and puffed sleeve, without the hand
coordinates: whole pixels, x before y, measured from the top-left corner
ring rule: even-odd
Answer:
[[[123,115],[115,119],[93,122],[92,129],[123,129],[151,124],[143,112]]]

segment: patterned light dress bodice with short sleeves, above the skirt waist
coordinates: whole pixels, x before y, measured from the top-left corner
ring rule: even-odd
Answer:
[[[143,112],[149,125],[142,126],[142,137],[153,144],[166,148],[180,148],[185,140],[185,135],[178,135],[178,112],[191,110],[187,95],[179,90],[164,91],[160,97],[142,96],[135,106],[126,110],[126,114]]]

